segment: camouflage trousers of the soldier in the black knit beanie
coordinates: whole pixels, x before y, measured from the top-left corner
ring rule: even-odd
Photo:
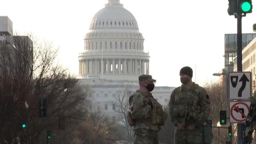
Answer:
[[[175,144],[203,144],[203,129],[176,130],[174,141]]]

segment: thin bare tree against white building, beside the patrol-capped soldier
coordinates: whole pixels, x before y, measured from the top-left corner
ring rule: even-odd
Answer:
[[[120,114],[120,117],[118,118],[118,121],[122,122],[124,124],[126,134],[127,134],[127,140],[132,141],[132,127],[128,124],[126,114],[129,112],[129,97],[130,92],[128,92],[127,89],[124,91],[120,91],[118,95],[115,96],[115,99],[117,101],[116,109],[115,111]]]

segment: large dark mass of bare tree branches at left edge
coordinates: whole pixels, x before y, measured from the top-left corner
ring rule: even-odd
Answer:
[[[46,128],[58,129],[59,118],[85,120],[86,92],[56,63],[57,49],[31,39],[14,36],[12,42],[0,42],[0,144],[17,138],[36,144]],[[41,98],[47,100],[47,118],[38,118]]]

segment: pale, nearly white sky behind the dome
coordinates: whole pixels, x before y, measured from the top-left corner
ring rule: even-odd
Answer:
[[[251,33],[252,14],[242,19],[242,32]],[[8,16],[16,32],[31,32],[60,48],[59,62],[78,74],[78,54],[90,22],[108,0],[1,0],[0,15]],[[216,81],[224,68],[224,34],[236,33],[228,0],[120,0],[136,18],[150,53],[150,74],[156,86],[180,86],[183,66],[194,70],[200,85]],[[196,72],[195,72],[196,67]],[[195,76],[196,75],[196,76]]]

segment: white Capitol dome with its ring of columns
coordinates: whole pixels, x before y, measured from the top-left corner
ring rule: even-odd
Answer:
[[[149,74],[149,54],[132,13],[120,0],[108,0],[92,18],[80,53],[79,76],[100,76],[113,81],[138,81]]]

